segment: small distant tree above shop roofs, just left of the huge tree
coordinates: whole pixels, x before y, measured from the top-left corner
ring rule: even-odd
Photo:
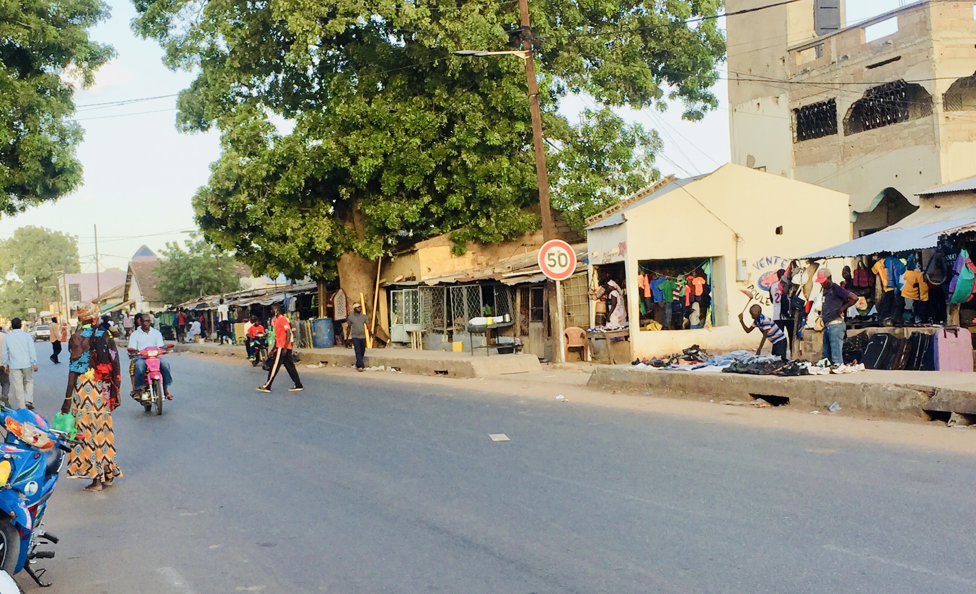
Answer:
[[[156,289],[166,303],[183,303],[196,297],[237,291],[240,281],[234,258],[203,239],[167,243],[153,272],[160,277]]]

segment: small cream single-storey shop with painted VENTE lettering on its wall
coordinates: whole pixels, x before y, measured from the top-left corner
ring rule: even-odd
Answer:
[[[601,280],[608,273],[626,277],[631,359],[680,352],[692,344],[712,352],[754,349],[758,334],[746,335],[737,320],[749,300],[742,290],[771,314],[760,278],[850,236],[846,194],[735,164],[649,186],[588,222],[591,274]],[[653,331],[637,326],[638,275],[667,268],[670,261],[693,262],[688,267],[709,262],[709,327]]]

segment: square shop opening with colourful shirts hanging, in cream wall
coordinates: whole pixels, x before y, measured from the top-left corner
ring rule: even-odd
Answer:
[[[711,328],[712,291],[711,257],[637,260],[640,330]]]

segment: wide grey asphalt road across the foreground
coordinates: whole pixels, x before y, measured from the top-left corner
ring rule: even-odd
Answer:
[[[50,594],[976,588],[968,457],[379,374],[263,395],[246,364],[170,361],[164,416],[115,414],[125,477],[61,482]]]

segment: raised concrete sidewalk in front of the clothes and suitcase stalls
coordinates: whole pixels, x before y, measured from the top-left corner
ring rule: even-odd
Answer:
[[[842,408],[867,413],[976,415],[976,374],[867,370],[830,376],[749,376],[746,374],[662,371],[631,365],[601,366],[592,387],[638,388],[655,395],[714,400],[789,398],[791,405]]]

